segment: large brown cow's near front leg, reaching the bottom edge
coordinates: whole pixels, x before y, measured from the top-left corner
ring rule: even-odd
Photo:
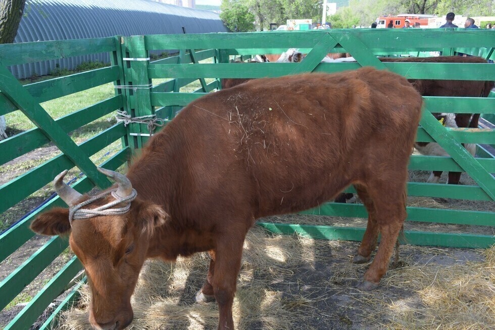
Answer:
[[[240,269],[242,246],[245,235],[234,239],[219,238],[215,251],[215,273],[212,285],[219,309],[219,330],[233,330],[232,304],[236,290],[237,275]]]

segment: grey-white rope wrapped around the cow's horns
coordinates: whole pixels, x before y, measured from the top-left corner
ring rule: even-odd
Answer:
[[[108,190],[106,192],[103,192],[100,195],[90,197],[86,201],[71,207],[69,209],[69,223],[70,223],[71,227],[72,227],[72,220],[73,219],[89,219],[89,218],[93,218],[93,217],[99,216],[99,215],[119,215],[119,214],[127,213],[131,207],[131,202],[137,197],[137,192],[135,189],[133,189],[129,196],[120,197],[119,195],[116,194],[117,189],[118,188]],[[94,201],[103,199],[108,195],[112,195],[112,197],[115,200],[110,202],[110,203],[107,203],[105,205],[98,206],[97,208],[94,208],[94,209],[83,209],[82,208],[88,204],[91,204]],[[126,205],[123,207],[112,209],[113,206],[120,204],[120,203],[126,203]]]

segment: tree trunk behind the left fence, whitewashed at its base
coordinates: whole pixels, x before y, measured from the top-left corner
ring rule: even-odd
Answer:
[[[12,43],[21,22],[26,0],[0,0],[0,43]],[[0,140],[7,137],[5,117],[0,116]]]

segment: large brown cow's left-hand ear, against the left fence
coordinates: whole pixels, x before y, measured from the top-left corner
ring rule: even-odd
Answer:
[[[69,209],[61,207],[44,212],[31,222],[32,231],[48,236],[67,234],[71,230]]]

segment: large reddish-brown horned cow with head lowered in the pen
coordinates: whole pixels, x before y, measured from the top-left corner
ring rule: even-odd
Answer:
[[[191,102],[150,139],[127,177],[102,170],[119,182],[111,196],[91,202],[59,175],[56,189],[71,209],[47,211],[31,228],[70,233],[89,278],[94,328],[131,322],[130,297],[146,258],[208,251],[210,269],[196,300],[216,299],[218,328],[233,329],[243,242],[255,220],[316,207],[354,184],[369,212],[354,262],[370,260],[381,233],[358,286],[371,290],[406,218],[421,105],[405,78],[373,68],[248,81]],[[76,211],[85,200],[88,209],[122,203],[118,210]],[[93,217],[79,219],[86,215]]]

